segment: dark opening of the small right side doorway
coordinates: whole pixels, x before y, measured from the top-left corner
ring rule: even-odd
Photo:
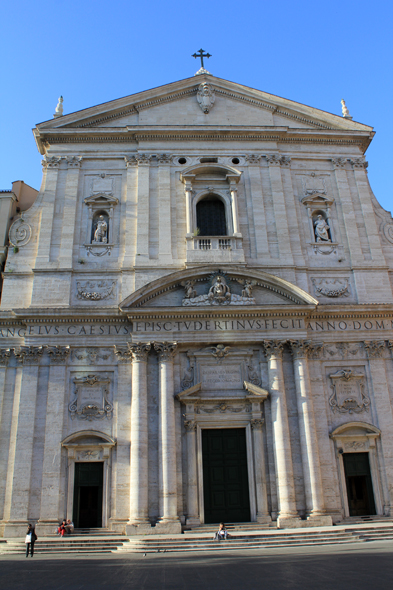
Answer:
[[[368,453],[344,453],[343,459],[350,516],[375,514]]]

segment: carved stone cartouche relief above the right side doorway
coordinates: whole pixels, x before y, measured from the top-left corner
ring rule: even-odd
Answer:
[[[364,393],[364,376],[351,369],[342,369],[329,375],[333,394],[329,405],[333,412],[340,414],[368,412],[370,398]]]

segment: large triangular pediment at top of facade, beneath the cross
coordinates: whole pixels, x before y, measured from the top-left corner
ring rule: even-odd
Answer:
[[[207,86],[203,87],[204,84]],[[239,128],[372,132],[372,127],[367,125],[241,84],[201,75],[40,123],[35,135],[38,142],[46,134],[69,134],[77,130],[84,136],[117,130],[130,137],[138,133],[147,137],[152,129],[155,133],[157,128],[169,127],[172,131],[186,128],[190,132],[202,126],[221,133],[226,129],[236,132]]]

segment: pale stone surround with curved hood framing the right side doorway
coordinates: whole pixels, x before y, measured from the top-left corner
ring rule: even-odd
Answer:
[[[330,434],[334,441],[335,455],[338,464],[338,475],[344,516],[350,516],[347,483],[344,466],[344,455],[346,453],[368,453],[370,473],[373,486],[374,502],[376,513],[388,516],[390,511],[388,501],[384,501],[385,491],[382,492],[380,480],[380,449],[378,448],[381,431],[379,428],[368,422],[347,422],[338,426]]]

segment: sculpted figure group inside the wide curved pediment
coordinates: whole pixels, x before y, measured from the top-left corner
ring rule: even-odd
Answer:
[[[191,283],[191,281],[188,281],[188,283]],[[215,275],[212,278],[210,289],[206,295],[187,297],[188,294],[191,294],[193,286],[193,284],[189,285],[189,293],[186,292],[186,297],[182,301],[183,306],[200,307],[205,305],[255,305],[254,297],[247,297],[244,295],[236,295],[231,293],[227,279],[223,274]],[[243,292],[251,293],[251,288],[251,281],[247,281],[247,287],[243,289]]]

